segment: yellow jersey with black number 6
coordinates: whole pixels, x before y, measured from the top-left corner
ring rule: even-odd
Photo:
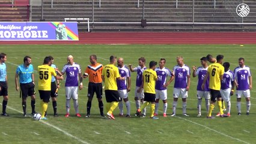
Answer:
[[[207,70],[210,76],[209,88],[220,90],[221,89],[221,75],[224,74],[224,67],[219,63],[210,64]]]

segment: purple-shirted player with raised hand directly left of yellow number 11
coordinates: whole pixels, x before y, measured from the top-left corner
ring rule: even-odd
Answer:
[[[139,109],[139,107],[141,107],[141,103],[144,103],[144,91],[142,89],[141,92],[137,92],[137,90],[139,89],[139,87],[141,86],[142,84],[142,73],[143,71],[147,68],[145,67],[145,62],[146,62],[146,59],[141,57],[138,59],[138,67],[135,67],[135,68],[132,68],[132,65],[129,64],[129,69],[130,71],[137,71],[137,77],[136,77],[136,88],[135,88],[135,104],[136,104],[136,109]],[[140,102],[141,101],[141,102]],[[146,109],[143,109],[143,115],[145,117],[146,115]]]

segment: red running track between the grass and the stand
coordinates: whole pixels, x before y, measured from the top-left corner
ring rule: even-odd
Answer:
[[[80,32],[79,41],[0,41],[0,44],[256,44],[256,32]]]

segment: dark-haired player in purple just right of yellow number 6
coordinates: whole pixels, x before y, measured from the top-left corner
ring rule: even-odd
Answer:
[[[227,103],[227,115],[230,116],[231,103],[230,98],[231,95],[234,94],[234,73],[230,71],[230,63],[224,62],[223,64],[225,73],[223,75],[223,79],[221,80],[221,97]],[[218,113],[216,116],[219,116]]]

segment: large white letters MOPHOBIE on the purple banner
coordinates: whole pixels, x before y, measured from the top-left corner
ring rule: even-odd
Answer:
[[[48,31],[0,31],[0,38],[48,38]]]

